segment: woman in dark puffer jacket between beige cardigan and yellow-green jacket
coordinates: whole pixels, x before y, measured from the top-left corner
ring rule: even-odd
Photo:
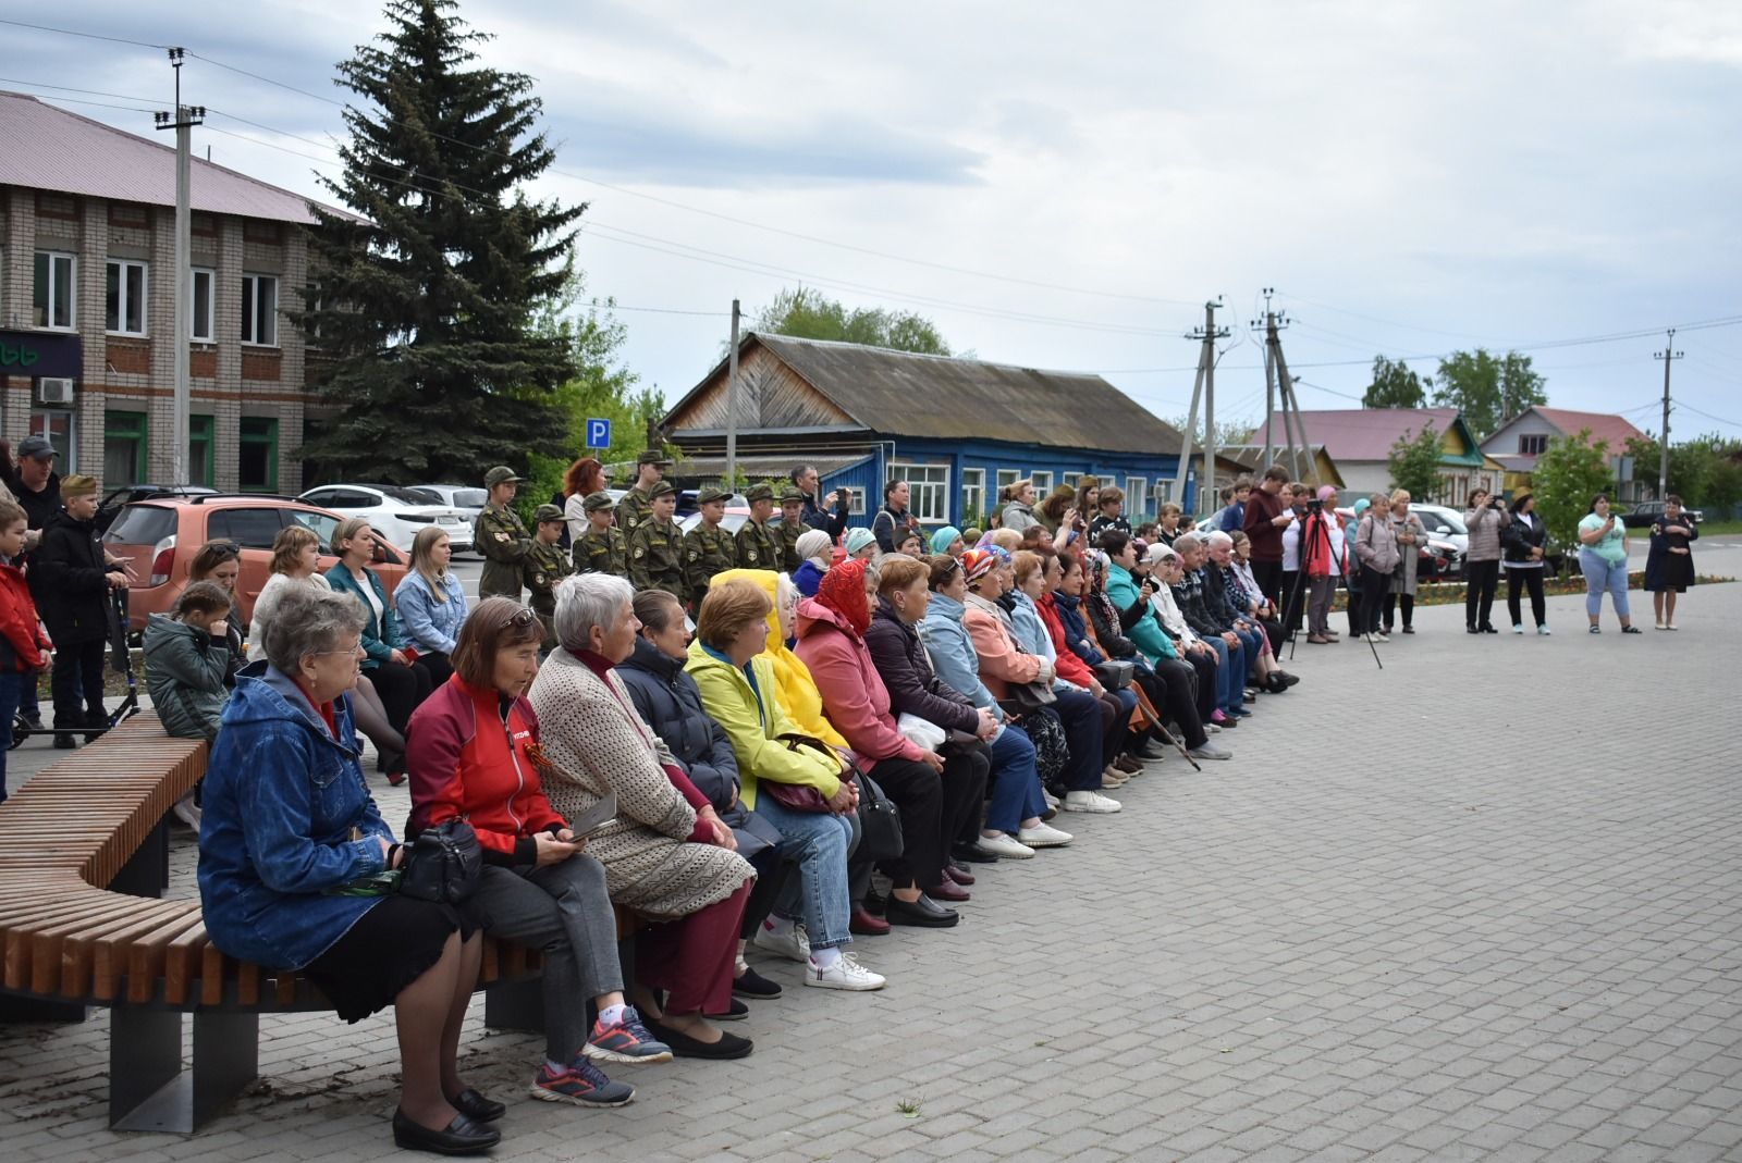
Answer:
[[[739,759],[732,740],[702,709],[702,691],[683,669],[690,660],[683,606],[665,590],[641,590],[636,594],[634,611],[641,634],[636,635],[636,653],[617,663],[617,677],[629,688],[636,714],[660,736],[672,763],[714,804],[714,811],[739,841],[739,855],[756,869],[756,886],[744,902],[732,992],[740,998],[779,998],[780,985],[746,965],[744,942],[768,919],[793,871],[780,851],[780,832],[739,801]]]

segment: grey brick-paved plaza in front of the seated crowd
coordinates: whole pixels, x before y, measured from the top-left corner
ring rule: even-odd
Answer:
[[[960,928],[862,940],[887,991],[794,987],[744,1062],[625,1071],[631,1107],[524,1099],[540,1043],[477,1003],[495,1158],[1742,1158],[1742,585],[1674,635],[1550,609],[1549,639],[1423,609],[1383,672],[1303,646],[1235,761],[1151,766]],[[390,1015],[265,1018],[261,1083],[192,1140],[105,1130],[106,1025],[0,1029],[9,1160],[390,1151]]]

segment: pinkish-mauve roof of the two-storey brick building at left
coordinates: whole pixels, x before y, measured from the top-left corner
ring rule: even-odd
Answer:
[[[139,115],[145,122],[145,115]],[[176,204],[176,150],[21,92],[0,91],[0,185],[146,205]],[[314,223],[308,198],[199,157],[193,209],[279,223]]]

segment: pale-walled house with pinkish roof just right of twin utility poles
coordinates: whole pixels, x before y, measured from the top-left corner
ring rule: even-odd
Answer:
[[[1347,407],[1303,411],[1296,416],[1305,428],[1301,435],[1306,444],[1322,447],[1343,475],[1343,491],[1352,496],[1388,489],[1392,447],[1420,435],[1427,425],[1441,434],[1441,487],[1432,498],[1416,500],[1462,505],[1472,487],[1493,489],[1500,484],[1498,465],[1482,454],[1475,434],[1456,407]],[[1280,439],[1286,432],[1282,414],[1273,414],[1270,425],[1273,439]],[[1263,425],[1247,440],[1261,432]]]

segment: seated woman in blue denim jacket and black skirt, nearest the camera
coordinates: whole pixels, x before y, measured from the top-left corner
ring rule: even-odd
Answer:
[[[206,768],[206,928],[232,958],[301,971],[347,1022],[394,1006],[394,1142],[479,1153],[502,1139],[483,1125],[500,1104],[458,1074],[479,921],[467,907],[395,895],[381,877],[402,850],[362,782],[345,696],[362,623],[350,595],[289,590],[267,660],[239,676]]]

